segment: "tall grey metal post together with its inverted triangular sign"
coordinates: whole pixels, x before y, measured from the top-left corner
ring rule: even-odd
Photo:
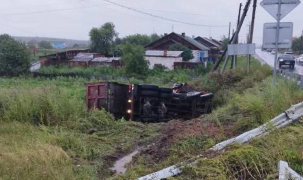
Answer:
[[[300,4],[300,0],[263,0],[261,6],[277,20],[276,38],[275,38],[275,59],[274,59],[274,74],[272,82],[276,83],[277,59],[279,48],[280,21],[295,7]],[[278,7],[277,7],[278,5]],[[265,38],[265,37],[263,37]]]

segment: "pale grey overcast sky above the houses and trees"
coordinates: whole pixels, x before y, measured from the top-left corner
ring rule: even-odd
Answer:
[[[0,0],[0,33],[13,36],[39,36],[88,40],[92,27],[113,22],[119,37],[129,34],[185,32],[187,35],[220,39],[228,35],[228,23],[236,28],[239,3],[246,0],[112,0],[153,15],[200,25],[185,25],[140,14],[112,5],[104,0]],[[263,24],[275,22],[258,0],[254,42],[262,43]],[[240,33],[245,41],[252,8]],[[303,4],[288,14],[282,22],[294,22],[293,35],[303,30]]]

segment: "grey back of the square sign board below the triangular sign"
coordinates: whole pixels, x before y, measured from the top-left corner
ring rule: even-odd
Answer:
[[[263,29],[263,45],[262,48],[275,48],[276,46],[276,33],[278,23],[265,23]],[[292,45],[292,32],[294,23],[281,22],[278,48],[291,48]]]

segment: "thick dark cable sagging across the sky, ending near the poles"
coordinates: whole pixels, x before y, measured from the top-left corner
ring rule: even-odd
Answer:
[[[158,16],[158,15],[153,15],[153,14],[150,14],[150,13],[147,13],[147,12],[144,12],[144,11],[140,11],[138,9],[134,9],[134,8],[131,8],[131,7],[127,7],[127,6],[124,6],[124,5],[112,2],[112,1],[108,1],[108,0],[102,0],[102,1],[111,3],[113,5],[120,6],[122,8],[129,9],[129,10],[141,13],[141,14],[149,15],[149,16],[152,16],[152,17],[155,17],[155,18],[164,19],[164,20],[167,20],[167,21],[178,22],[178,23],[181,23],[181,24],[194,25],[194,26],[202,26],[202,27],[228,27],[228,25],[222,25],[222,26],[218,26],[218,25],[201,25],[201,24],[195,24],[195,23],[188,23],[188,22],[184,22],[184,21],[178,21],[178,20],[174,20],[174,19],[170,19],[170,18],[161,17],[161,16]]]

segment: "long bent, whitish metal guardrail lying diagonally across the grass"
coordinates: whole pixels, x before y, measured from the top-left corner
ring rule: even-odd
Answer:
[[[303,116],[303,102],[298,103],[296,105],[292,105],[290,109],[286,110],[284,113],[275,117],[268,123],[251,131],[243,133],[240,136],[218,143],[217,145],[213,146],[211,149],[208,149],[208,151],[219,151],[233,143],[248,142],[250,139],[254,137],[262,136],[274,130],[275,128],[279,129],[281,127],[288,126],[289,124],[298,120],[301,116]],[[198,155],[197,157],[203,157],[203,155]],[[190,162],[189,164],[195,164],[195,162]],[[179,165],[172,165],[158,172],[154,172],[152,174],[138,178],[137,180],[161,180],[171,176],[175,176],[182,172],[182,166],[189,164],[187,162],[182,162]]]

